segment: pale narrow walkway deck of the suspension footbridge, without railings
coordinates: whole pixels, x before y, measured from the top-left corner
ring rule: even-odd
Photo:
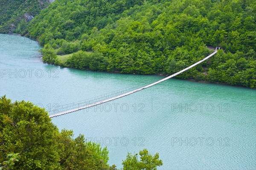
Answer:
[[[93,107],[93,106],[96,106],[96,105],[99,105],[99,104],[103,104],[103,103],[106,103],[106,102],[109,102],[109,101],[116,100],[116,99],[118,99],[118,98],[122,98],[122,97],[127,96],[127,95],[131,95],[131,94],[133,94],[133,93],[135,93],[135,92],[139,92],[140,90],[143,90],[143,89],[146,89],[146,88],[148,88],[148,87],[154,86],[154,85],[156,85],[156,84],[159,84],[159,83],[161,83],[161,82],[163,82],[163,81],[168,80],[169,78],[173,78],[173,77],[175,77],[176,75],[179,75],[179,74],[182,73],[182,72],[185,72],[186,70],[188,70],[188,69],[190,69],[190,68],[192,68],[192,67],[198,65],[199,63],[202,63],[203,61],[206,61],[208,58],[212,57],[212,56],[215,55],[216,53],[217,53],[217,48],[216,48],[215,52],[213,52],[212,54],[208,55],[208,56],[207,56],[206,58],[204,58],[203,60],[198,61],[197,63],[192,64],[191,66],[187,67],[186,69],[183,69],[183,70],[181,70],[181,71],[179,71],[179,72],[176,72],[176,73],[173,74],[173,75],[170,75],[170,76],[168,76],[168,77],[166,77],[166,78],[161,79],[160,81],[156,81],[156,82],[154,82],[154,83],[152,83],[152,84],[149,84],[149,85],[147,85],[147,86],[143,86],[143,87],[141,87],[141,88],[139,88],[139,89],[133,90],[133,91],[131,91],[131,92],[124,93],[124,94],[122,94],[122,95],[115,96],[115,97],[113,97],[113,98],[109,98],[109,99],[106,99],[106,100],[102,100],[102,101],[99,101],[99,102],[96,102],[96,103],[93,103],[93,104],[88,104],[88,105],[83,106],[83,107],[79,107],[79,108],[76,108],[76,109],[70,109],[70,110],[67,110],[67,111],[65,111],[65,112],[60,112],[60,113],[57,113],[57,114],[54,114],[54,115],[49,115],[49,117],[50,117],[50,118],[54,118],[54,117],[57,117],[57,116],[60,116],[60,115],[65,115],[65,114],[68,114],[68,113],[71,113],[71,112],[76,112],[76,111],[81,110],[81,109],[86,109],[86,108],[89,108],[89,107]]]

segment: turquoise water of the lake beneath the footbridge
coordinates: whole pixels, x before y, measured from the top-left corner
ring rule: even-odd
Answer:
[[[121,75],[42,63],[35,41],[0,35],[0,95],[41,107],[70,104],[155,75]],[[59,129],[107,146],[109,164],[147,148],[160,170],[256,169],[256,90],[170,79],[107,104],[52,118]]]

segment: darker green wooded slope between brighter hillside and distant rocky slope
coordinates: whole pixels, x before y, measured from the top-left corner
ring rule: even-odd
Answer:
[[[104,28],[124,10],[141,0],[57,0],[32,21],[30,35],[42,45],[52,39],[76,40],[84,33]]]

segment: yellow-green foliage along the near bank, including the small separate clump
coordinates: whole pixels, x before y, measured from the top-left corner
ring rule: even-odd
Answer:
[[[158,153],[147,150],[123,161],[124,170],[156,170],[162,165]],[[132,169],[129,164],[132,165]],[[116,170],[108,165],[108,150],[74,138],[71,130],[52,124],[44,109],[30,102],[0,98],[0,169],[2,170]]]

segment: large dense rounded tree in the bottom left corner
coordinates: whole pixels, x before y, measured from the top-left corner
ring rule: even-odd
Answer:
[[[44,109],[25,101],[11,103],[3,96],[0,124],[0,162],[8,160],[9,153],[18,153],[19,161],[12,170],[57,169],[59,155],[54,136],[58,129]]]

